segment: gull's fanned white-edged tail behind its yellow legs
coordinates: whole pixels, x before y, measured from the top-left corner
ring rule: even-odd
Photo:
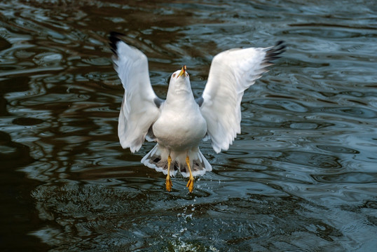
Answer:
[[[146,167],[156,169],[157,172],[163,172],[163,174],[167,175],[167,155],[164,151],[166,151],[164,148],[156,144],[156,146],[142,158],[142,163]],[[181,172],[184,177],[190,176],[186,164],[186,153],[183,155],[172,154],[171,156],[172,164],[170,164],[170,176],[175,176],[178,171]],[[195,151],[191,151],[190,160],[193,176],[203,175],[207,171],[212,171],[210,162],[205,159],[199,148]]]

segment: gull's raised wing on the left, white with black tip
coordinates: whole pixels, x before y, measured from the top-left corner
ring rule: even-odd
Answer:
[[[119,113],[118,137],[123,148],[139,151],[149,128],[160,114],[159,99],[149,79],[148,59],[144,53],[127,45],[120,38],[123,34],[111,32],[110,45],[116,57],[114,68],[124,87],[124,97]]]

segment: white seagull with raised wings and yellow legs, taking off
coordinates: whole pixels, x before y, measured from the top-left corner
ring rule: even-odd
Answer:
[[[114,52],[114,69],[124,87],[118,119],[122,148],[139,151],[145,140],[157,142],[142,158],[146,167],[170,176],[177,171],[185,178],[190,193],[194,176],[212,171],[199,150],[200,141],[210,139],[216,153],[226,151],[240,134],[242,96],[248,87],[268,71],[267,66],[285,51],[284,41],[267,48],[233,48],[214,56],[201,97],[195,99],[186,66],[172,73],[166,99],[153,91],[148,59],[143,52],[112,31],[109,45]]]

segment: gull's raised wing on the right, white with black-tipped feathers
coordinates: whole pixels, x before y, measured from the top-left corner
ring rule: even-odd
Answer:
[[[212,59],[207,85],[197,102],[207,121],[214,151],[228,150],[241,132],[241,99],[245,90],[268,71],[284,52],[283,41],[270,48],[231,49]]]

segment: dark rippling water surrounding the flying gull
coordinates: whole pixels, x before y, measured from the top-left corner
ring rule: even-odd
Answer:
[[[374,251],[374,1],[1,1],[1,251]],[[150,60],[161,97],[188,66],[287,41],[242,103],[229,151],[186,180],[118,144],[109,31]]]

